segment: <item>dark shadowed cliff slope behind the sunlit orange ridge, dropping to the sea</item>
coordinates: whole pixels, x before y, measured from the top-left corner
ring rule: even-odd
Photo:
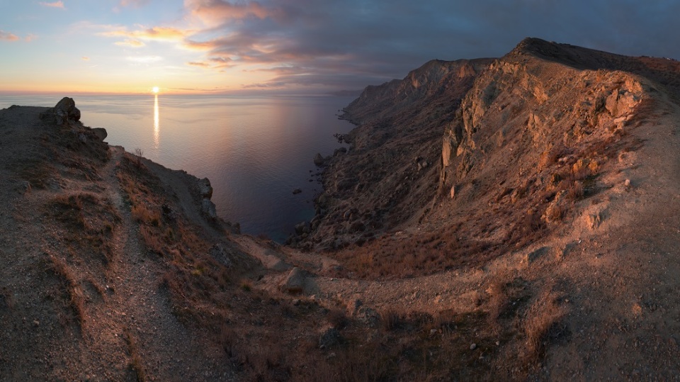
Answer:
[[[368,86],[345,108],[358,123],[336,152],[319,198],[322,214],[305,247],[335,248],[395,227],[415,215],[436,190],[442,125],[492,60],[433,60],[402,80]],[[360,240],[360,241],[361,241]]]

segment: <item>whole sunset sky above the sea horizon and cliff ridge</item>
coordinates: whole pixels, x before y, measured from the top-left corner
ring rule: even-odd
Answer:
[[[680,1],[0,0],[0,93],[326,94],[526,37],[680,57]]]

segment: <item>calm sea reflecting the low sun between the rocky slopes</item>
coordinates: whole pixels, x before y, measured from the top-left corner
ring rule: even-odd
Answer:
[[[0,96],[0,108],[55,106],[61,96]],[[334,133],[353,97],[75,96],[81,121],[106,128],[106,141],[171,169],[208,177],[212,201],[242,232],[283,241],[314,215],[322,191],[312,159],[341,145]],[[312,170],[312,172],[310,172]],[[312,180],[312,181],[310,181]],[[293,195],[293,189],[302,193]]]

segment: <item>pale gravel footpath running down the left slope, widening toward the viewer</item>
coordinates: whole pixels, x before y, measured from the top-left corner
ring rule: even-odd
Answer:
[[[98,322],[89,333],[93,345],[102,354],[127,347],[133,367],[152,381],[220,379],[222,368],[211,361],[214,356],[205,354],[172,314],[161,287],[164,271],[140,244],[139,228],[115,177],[122,156],[121,147],[111,147],[111,159],[101,171],[106,195],[122,221],[114,241],[117,256],[108,270],[108,296],[90,312]]]

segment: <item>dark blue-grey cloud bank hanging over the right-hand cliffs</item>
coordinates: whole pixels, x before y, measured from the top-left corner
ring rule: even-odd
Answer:
[[[625,55],[680,57],[676,1],[186,0],[206,60],[271,64],[266,84],[361,88],[438,58],[499,57],[531,36]],[[203,37],[203,38],[201,38]],[[283,70],[283,68],[286,68]]]

